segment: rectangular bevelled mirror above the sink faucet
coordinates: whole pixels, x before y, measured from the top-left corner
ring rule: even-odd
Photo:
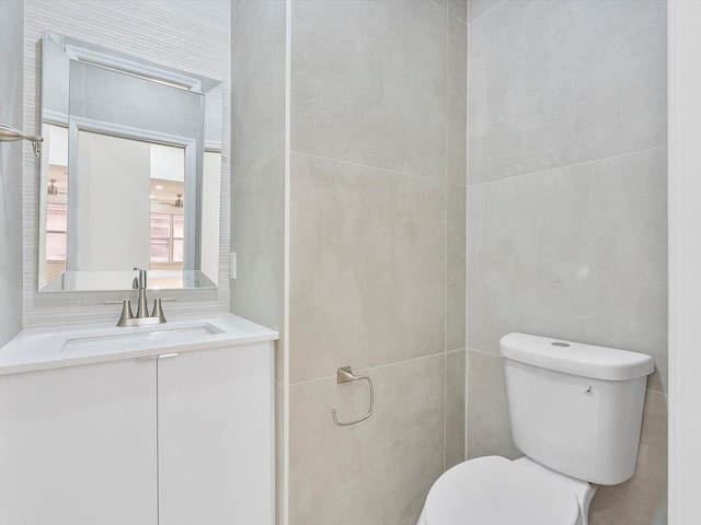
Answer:
[[[39,291],[215,288],[222,85],[44,33]]]

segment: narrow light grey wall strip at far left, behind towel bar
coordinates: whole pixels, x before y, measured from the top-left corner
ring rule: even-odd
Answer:
[[[0,2],[0,124],[22,122],[22,0]],[[0,347],[22,329],[22,149],[0,143]]]

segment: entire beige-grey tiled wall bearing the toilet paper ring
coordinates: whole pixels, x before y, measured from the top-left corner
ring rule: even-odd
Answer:
[[[463,458],[464,1],[291,1],[289,525],[414,524]],[[350,365],[375,384],[336,385]]]

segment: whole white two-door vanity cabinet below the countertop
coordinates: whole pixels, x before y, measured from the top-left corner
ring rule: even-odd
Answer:
[[[268,332],[21,373],[0,358],[0,524],[272,525]]]

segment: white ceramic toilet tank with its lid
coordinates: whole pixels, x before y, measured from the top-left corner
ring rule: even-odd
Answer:
[[[518,450],[593,483],[633,475],[650,355],[527,334],[504,336],[499,349]]]

